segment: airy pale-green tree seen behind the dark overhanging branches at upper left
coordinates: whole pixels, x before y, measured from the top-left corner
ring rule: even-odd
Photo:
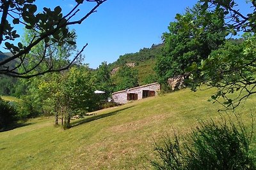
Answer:
[[[74,30],[71,32],[72,36],[67,38],[67,41],[63,42],[61,46],[54,43],[52,39],[50,39],[48,42],[51,44],[51,46],[48,48],[45,48],[44,42],[40,42],[33,46],[26,56],[26,64],[23,64],[17,69],[18,73],[28,72],[29,70],[27,75],[33,75],[42,73],[48,67],[57,69],[59,67],[67,66],[67,64],[70,63],[69,57],[76,52],[76,32]],[[31,39],[33,39],[33,36],[35,35],[38,35],[38,32],[35,32],[35,30],[25,30],[22,37],[22,44],[28,46]],[[75,44],[70,45],[68,42],[71,41]],[[42,60],[42,56],[45,57],[44,60]],[[72,64],[77,64],[81,59],[82,55],[80,54]],[[51,63],[49,63],[50,61]]]

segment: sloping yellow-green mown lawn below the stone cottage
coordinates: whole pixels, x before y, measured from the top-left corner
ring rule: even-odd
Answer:
[[[186,134],[198,120],[220,118],[221,106],[207,101],[211,94],[184,89],[135,101],[97,111],[65,131],[53,126],[54,118],[29,120],[0,133],[1,169],[152,169],[148,160],[155,158],[154,140],[172,136],[173,129]],[[236,110],[246,127],[255,101],[250,97]],[[234,113],[227,114],[233,118]]]

